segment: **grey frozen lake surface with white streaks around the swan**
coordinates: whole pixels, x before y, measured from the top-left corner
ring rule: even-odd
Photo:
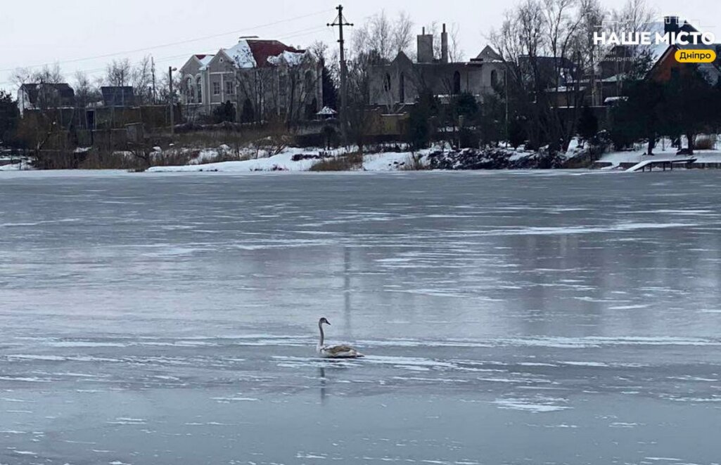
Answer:
[[[718,464],[719,174],[1,173],[0,464]]]

